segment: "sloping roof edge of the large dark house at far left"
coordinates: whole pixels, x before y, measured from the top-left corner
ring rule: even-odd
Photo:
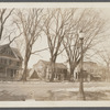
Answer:
[[[10,47],[13,52],[13,54],[15,55],[16,58],[19,58],[20,61],[22,61],[22,56],[21,53],[19,52],[18,48],[11,47],[9,44],[4,44],[4,45],[0,45],[0,50],[2,50],[3,47]],[[6,56],[7,57],[7,56]]]

